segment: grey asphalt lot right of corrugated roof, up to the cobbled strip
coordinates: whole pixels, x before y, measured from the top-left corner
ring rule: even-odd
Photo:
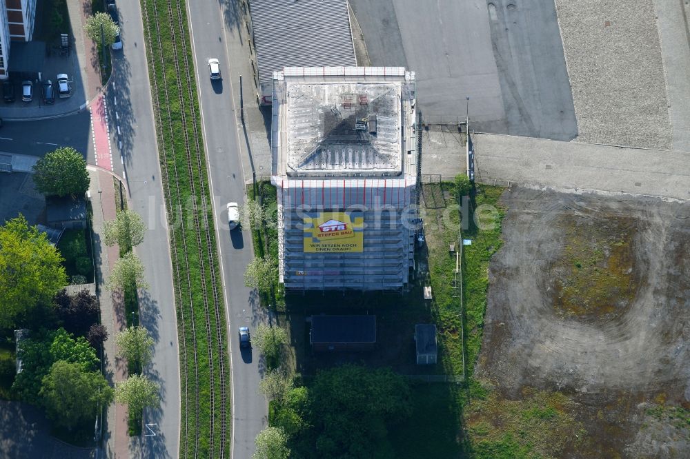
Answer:
[[[517,5],[517,6],[516,6]],[[475,130],[570,140],[577,134],[552,0],[353,0],[371,65],[417,72],[425,116]]]

